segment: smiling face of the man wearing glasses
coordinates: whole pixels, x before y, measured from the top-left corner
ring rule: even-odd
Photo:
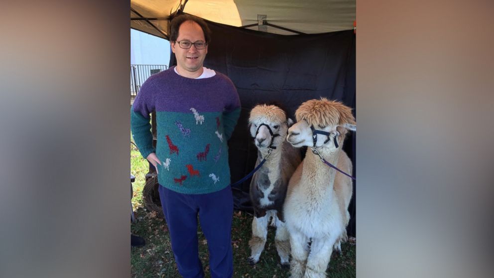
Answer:
[[[185,21],[178,29],[177,41],[188,40],[190,42],[206,41],[204,32],[194,21]],[[172,42],[171,49],[177,58],[178,72],[188,71],[194,73],[202,70],[204,58],[208,53],[208,47],[205,49],[196,49],[192,45],[189,49],[183,49],[178,45],[178,42]]]

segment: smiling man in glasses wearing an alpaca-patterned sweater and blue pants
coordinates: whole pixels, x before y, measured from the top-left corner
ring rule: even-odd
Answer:
[[[143,157],[158,173],[159,195],[178,271],[202,278],[197,215],[208,241],[212,278],[233,276],[227,140],[240,116],[232,81],[203,67],[211,40],[206,22],[179,15],[170,24],[177,66],[149,77],[131,108],[131,131]],[[152,147],[149,114],[156,111]]]

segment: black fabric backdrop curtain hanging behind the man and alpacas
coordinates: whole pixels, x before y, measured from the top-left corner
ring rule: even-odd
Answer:
[[[239,123],[229,141],[232,182],[253,168],[257,151],[249,135],[249,111],[260,103],[277,102],[295,120],[298,106],[326,97],[353,108],[355,116],[355,34],[353,30],[308,35],[277,35],[208,21],[212,41],[204,66],[226,74],[237,87],[242,103]],[[176,65],[172,53],[170,66]],[[305,153],[305,149],[301,149]],[[344,150],[355,175],[355,135],[349,133]],[[235,208],[252,212],[250,179],[233,188]],[[347,228],[355,236],[355,182]]]

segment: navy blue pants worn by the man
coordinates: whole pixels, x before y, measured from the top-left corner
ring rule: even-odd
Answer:
[[[182,194],[159,186],[159,198],[170,231],[171,248],[184,278],[203,278],[199,259],[197,215],[208,241],[211,278],[233,276],[232,189],[208,194]]]

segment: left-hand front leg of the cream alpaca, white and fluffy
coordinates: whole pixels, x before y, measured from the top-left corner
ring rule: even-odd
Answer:
[[[289,233],[292,260],[290,262],[290,278],[302,278],[309,254],[308,238],[299,232]]]

